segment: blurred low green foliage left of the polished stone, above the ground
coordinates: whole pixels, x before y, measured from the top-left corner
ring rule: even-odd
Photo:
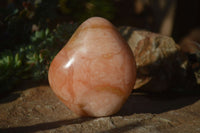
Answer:
[[[62,34],[70,36],[76,27],[76,25],[63,24],[52,32],[48,28],[39,30],[30,37],[30,44],[21,45],[15,51],[1,52],[0,91],[12,89],[16,83],[23,80],[47,79],[51,60],[68,39]]]

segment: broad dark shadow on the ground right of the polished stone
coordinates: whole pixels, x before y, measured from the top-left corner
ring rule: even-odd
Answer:
[[[200,95],[132,93],[116,115],[127,116],[134,113],[159,114],[191,105],[199,99]]]

